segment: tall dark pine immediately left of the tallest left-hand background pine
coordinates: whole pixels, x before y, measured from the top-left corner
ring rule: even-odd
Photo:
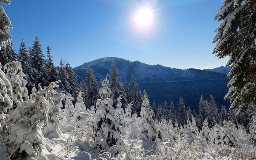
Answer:
[[[23,72],[26,75],[25,80],[27,81],[27,88],[29,91],[33,88],[35,84],[35,78],[33,75],[36,75],[37,71],[30,66],[30,57],[27,54],[26,44],[24,39],[21,40],[19,47],[19,54],[17,56],[17,61],[19,61],[22,65]]]

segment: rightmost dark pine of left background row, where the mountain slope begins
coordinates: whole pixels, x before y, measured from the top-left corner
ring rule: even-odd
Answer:
[[[68,74],[68,83],[71,88],[70,94],[76,98],[79,91],[78,83],[76,81],[77,76],[68,61],[65,61],[65,71]]]

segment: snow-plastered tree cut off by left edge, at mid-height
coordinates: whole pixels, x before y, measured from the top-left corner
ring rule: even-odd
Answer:
[[[12,108],[12,86],[1,70],[0,63],[0,114],[6,113]]]

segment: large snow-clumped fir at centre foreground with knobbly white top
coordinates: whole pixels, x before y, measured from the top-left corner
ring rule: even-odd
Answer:
[[[111,89],[108,88],[109,80],[107,80],[107,77],[108,75],[102,81],[103,87],[99,89],[101,99],[98,99],[96,103],[96,125],[94,126],[95,141],[101,148],[124,144],[120,136],[122,129],[112,107],[113,100],[108,98],[111,95]]]

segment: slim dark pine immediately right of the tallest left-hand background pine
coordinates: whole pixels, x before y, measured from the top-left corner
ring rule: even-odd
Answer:
[[[47,60],[46,60],[46,64],[45,64],[45,68],[46,68],[46,73],[49,76],[49,81],[53,82],[57,80],[57,69],[53,64],[53,60],[52,60],[52,56],[50,55],[50,47],[49,45],[46,48],[46,52],[47,52]]]

